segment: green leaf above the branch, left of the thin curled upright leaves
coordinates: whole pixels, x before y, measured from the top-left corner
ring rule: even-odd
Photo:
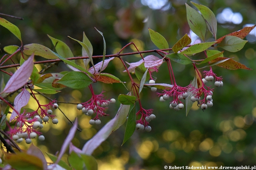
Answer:
[[[66,45],[65,42],[60,41],[56,38],[53,38],[50,35],[48,35],[48,37],[52,40],[52,43],[55,46],[55,49],[60,56],[64,58],[74,57],[72,51],[70,50],[69,46]]]

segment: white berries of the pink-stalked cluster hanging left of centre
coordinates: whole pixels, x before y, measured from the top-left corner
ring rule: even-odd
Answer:
[[[102,102],[101,104],[100,104],[99,101],[97,101],[97,105],[100,106],[100,107],[103,107],[103,108],[107,107],[109,104],[114,104],[114,103],[116,103],[116,99],[114,99],[114,98],[111,98],[110,101]],[[89,107],[86,107],[86,108],[83,107],[82,104],[78,104],[76,106],[76,108],[78,110],[82,110],[82,113],[84,113],[85,115],[91,116],[92,114],[94,114],[94,110],[97,109],[97,106],[95,105],[94,106],[94,110],[93,110],[93,109],[90,109]],[[91,125],[94,125],[94,124],[99,125],[99,124],[101,124],[101,120],[100,119],[97,119],[97,120],[91,119],[91,120],[89,120],[89,124],[91,124]]]

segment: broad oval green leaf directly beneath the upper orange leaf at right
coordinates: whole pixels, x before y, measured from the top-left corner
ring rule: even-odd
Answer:
[[[225,36],[225,38],[220,42],[218,47],[222,47],[224,50],[230,51],[230,52],[236,52],[241,50],[247,40],[242,40],[241,38],[238,38],[236,36]]]

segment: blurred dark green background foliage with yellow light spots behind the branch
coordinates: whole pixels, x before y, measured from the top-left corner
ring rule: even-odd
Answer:
[[[189,33],[186,19],[185,2],[187,0],[169,0],[167,10],[153,10],[141,4],[139,0],[1,0],[0,12],[22,17],[24,20],[1,16],[15,24],[22,35],[23,44],[39,43],[53,49],[47,34],[60,39],[69,45],[74,56],[81,56],[81,46],[67,36],[82,41],[83,32],[94,47],[94,55],[102,55],[102,36],[95,30],[100,30],[106,40],[107,54],[116,53],[130,41],[134,41],[140,51],[156,49],[151,42],[148,28],[163,35],[173,46],[184,34]],[[215,15],[225,7],[234,12],[240,12],[243,20],[240,24],[219,24],[217,38],[240,30],[245,24],[255,24],[255,0],[195,0],[194,2],[208,6]],[[144,19],[146,18],[147,21]],[[145,22],[143,22],[145,21]],[[7,45],[20,45],[20,42],[7,29],[0,27],[0,49]],[[211,37],[206,33],[206,39]],[[142,105],[145,109],[154,109],[156,119],[150,122],[151,132],[135,131],[133,136],[121,147],[125,125],[114,132],[107,141],[96,149],[93,156],[97,159],[99,169],[163,169],[171,166],[239,166],[256,165],[256,77],[255,44],[246,43],[245,47],[236,53],[224,52],[224,57],[234,57],[234,60],[245,64],[253,70],[226,70],[213,67],[214,73],[222,76],[224,86],[215,88],[213,107],[204,112],[193,107],[186,117],[185,109],[179,112],[169,109],[168,102],[159,102],[156,93],[149,89],[142,91]],[[134,48],[127,47],[124,52],[132,52]],[[145,55],[144,55],[145,56]],[[19,61],[19,56],[13,59]],[[137,56],[123,57],[127,62],[140,60]],[[36,60],[42,60],[37,57]],[[95,60],[95,63],[100,60]],[[9,62],[10,64],[11,62]],[[82,63],[82,62],[81,62]],[[194,77],[192,65],[172,63],[178,85],[186,86]],[[38,66],[43,68],[44,66]],[[64,64],[52,67],[47,72],[62,72],[68,70]],[[110,62],[105,72],[116,75],[129,84],[127,74],[118,60]],[[166,74],[167,66],[163,64],[158,73],[156,83],[170,83]],[[7,69],[7,71],[10,71]],[[135,75],[134,75],[135,78]],[[6,79],[7,80],[7,79]],[[212,83],[213,84],[213,83]],[[121,84],[93,85],[96,93],[102,89],[106,97],[116,98],[125,94],[126,89]],[[49,95],[59,101],[85,102],[90,98],[88,89],[64,89],[62,93]],[[42,99],[43,100],[43,99]],[[82,115],[72,104],[59,104],[71,120],[79,118],[82,132],[77,132],[72,141],[81,148],[108,120],[114,117],[119,103],[108,108],[110,117],[102,118],[100,126],[89,125],[89,118]],[[138,109],[138,108],[137,108]],[[63,117],[57,113],[57,117]],[[65,118],[64,123],[45,130],[44,142],[37,145],[43,152],[59,151],[71,127]],[[66,122],[66,123],[65,123]],[[50,126],[50,125],[49,125]],[[26,144],[23,146],[26,148]]]

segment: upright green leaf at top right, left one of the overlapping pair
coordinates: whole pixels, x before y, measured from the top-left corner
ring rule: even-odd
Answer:
[[[190,29],[204,41],[206,23],[202,15],[186,4],[187,21]]]

